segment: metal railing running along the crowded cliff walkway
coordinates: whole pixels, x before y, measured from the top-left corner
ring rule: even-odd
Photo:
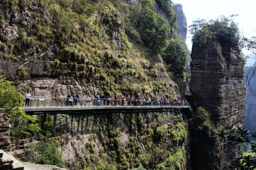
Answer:
[[[24,96],[25,107],[26,96]],[[30,96],[27,107],[190,106],[188,102]]]

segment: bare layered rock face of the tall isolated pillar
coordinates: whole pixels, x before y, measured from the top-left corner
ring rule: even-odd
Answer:
[[[231,128],[242,127],[241,119],[245,116],[246,88],[239,52],[237,43],[221,36],[217,42],[204,47],[199,47],[197,43],[192,46],[191,91],[194,108],[206,107],[215,126],[228,133]],[[216,168],[223,169],[239,155],[239,146],[218,143],[214,147],[212,151],[216,154],[209,157]]]

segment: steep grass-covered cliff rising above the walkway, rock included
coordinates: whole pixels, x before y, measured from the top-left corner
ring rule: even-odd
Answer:
[[[138,5],[128,2],[129,8]],[[119,11],[124,4],[116,5],[108,0],[2,1],[0,75],[37,96],[179,98],[160,55],[128,40],[126,13]]]

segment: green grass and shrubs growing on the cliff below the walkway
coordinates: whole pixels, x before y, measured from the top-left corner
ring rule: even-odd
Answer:
[[[187,125],[179,117],[158,115],[158,120],[146,124],[143,117],[130,124],[128,144],[121,146],[122,129],[104,127],[92,133],[85,146],[73,143],[76,162],[68,163],[73,170],[119,170],[143,167],[145,169],[183,169],[187,154],[183,145],[187,138]],[[175,126],[174,126],[175,124]],[[167,126],[168,125],[168,126]],[[81,138],[81,136],[78,138]],[[100,141],[101,144],[96,144]],[[101,145],[97,152],[96,145]],[[82,153],[78,148],[82,147]]]

